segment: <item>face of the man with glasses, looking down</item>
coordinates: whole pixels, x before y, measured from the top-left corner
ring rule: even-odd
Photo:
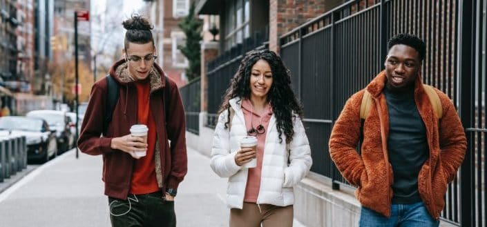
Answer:
[[[155,48],[152,42],[129,43],[124,52],[128,60],[128,71],[135,80],[146,79],[154,63]]]

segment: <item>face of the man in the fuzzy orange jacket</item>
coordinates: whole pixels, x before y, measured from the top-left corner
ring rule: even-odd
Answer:
[[[401,91],[414,86],[414,80],[421,68],[421,61],[419,61],[417,50],[398,44],[390,48],[384,66],[388,79],[386,86],[390,90]]]

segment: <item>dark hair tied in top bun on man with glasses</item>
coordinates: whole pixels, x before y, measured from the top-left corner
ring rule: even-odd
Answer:
[[[152,42],[154,44],[154,37],[151,32],[154,26],[146,18],[139,14],[132,14],[130,19],[122,22],[122,25],[127,30],[124,39],[125,50],[128,48],[128,43],[145,44]]]

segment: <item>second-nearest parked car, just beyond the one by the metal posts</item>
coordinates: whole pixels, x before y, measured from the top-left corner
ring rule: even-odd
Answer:
[[[57,148],[60,152],[72,148],[75,144],[75,137],[70,129],[75,125],[70,122],[66,112],[61,110],[32,110],[26,116],[44,119],[48,122],[49,128],[56,130]]]

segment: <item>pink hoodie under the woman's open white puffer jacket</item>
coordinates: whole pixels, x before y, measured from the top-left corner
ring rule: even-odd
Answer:
[[[262,158],[264,157],[265,135],[267,134],[267,126],[272,116],[271,105],[268,104],[261,115],[254,112],[252,103],[249,99],[242,101],[242,112],[245,118],[245,126],[247,130],[250,130],[252,126],[257,128],[259,124],[262,124],[265,128],[263,134],[257,135],[257,167],[249,168],[249,176],[247,177],[247,186],[245,187],[244,201],[250,203],[256,203],[260,190],[260,177],[262,172]]]

